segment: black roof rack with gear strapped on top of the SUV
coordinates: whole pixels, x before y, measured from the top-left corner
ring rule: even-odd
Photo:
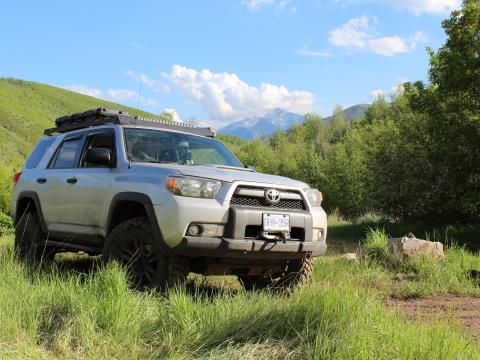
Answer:
[[[126,111],[105,108],[97,108],[59,117],[55,120],[56,127],[46,129],[44,134],[51,136],[57,133],[65,133],[106,124],[146,126],[163,130],[182,131],[212,138],[215,137],[215,130],[209,127],[194,127],[180,122],[149,119],[142,116],[131,117]]]

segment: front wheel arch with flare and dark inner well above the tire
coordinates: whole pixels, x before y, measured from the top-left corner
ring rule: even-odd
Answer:
[[[113,197],[107,215],[106,236],[121,222],[139,216],[144,216],[148,220],[155,240],[165,255],[168,255],[170,248],[163,240],[152,200],[143,193],[133,191],[121,192]]]

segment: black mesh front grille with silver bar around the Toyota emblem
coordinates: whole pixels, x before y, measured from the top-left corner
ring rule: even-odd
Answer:
[[[263,196],[264,191],[265,188],[239,186],[230,200],[230,205],[267,209],[306,210],[305,202],[298,192],[282,190],[280,191],[280,201],[276,204],[269,204]],[[282,197],[289,197],[289,199]]]

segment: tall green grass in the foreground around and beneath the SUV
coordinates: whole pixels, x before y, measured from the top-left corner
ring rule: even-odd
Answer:
[[[385,240],[383,231],[367,233],[365,261],[316,260],[311,283],[290,296],[248,293],[233,277],[195,277],[159,295],[130,291],[123,269],[88,258],[28,268],[4,235],[0,358],[478,358],[478,343],[460,324],[411,322],[382,301],[479,295],[468,271],[480,269],[480,257],[451,246],[443,262],[395,265]]]

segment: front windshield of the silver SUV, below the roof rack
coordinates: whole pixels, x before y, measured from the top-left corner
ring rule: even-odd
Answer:
[[[220,141],[164,130],[125,128],[129,161],[243,167]]]

